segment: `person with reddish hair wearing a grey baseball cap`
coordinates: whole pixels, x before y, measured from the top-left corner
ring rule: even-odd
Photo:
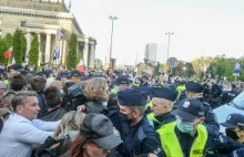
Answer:
[[[108,117],[102,114],[88,114],[80,125],[80,134],[62,157],[105,157],[109,150],[121,143]]]

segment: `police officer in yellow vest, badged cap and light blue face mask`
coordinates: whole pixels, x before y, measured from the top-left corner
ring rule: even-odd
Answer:
[[[197,98],[181,101],[179,108],[172,114],[177,116],[176,122],[157,132],[166,156],[207,157],[218,150],[231,153],[243,147],[242,144],[202,125],[205,119],[204,106]]]

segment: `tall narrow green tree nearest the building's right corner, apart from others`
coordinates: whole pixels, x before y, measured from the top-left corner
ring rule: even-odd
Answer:
[[[67,67],[69,70],[75,69],[77,66],[77,45],[78,45],[78,38],[74,33],[71,34],[71,39],[69,42],[69,54],[67,59]]]

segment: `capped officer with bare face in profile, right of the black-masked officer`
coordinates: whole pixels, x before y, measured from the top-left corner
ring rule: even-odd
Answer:
[[[167,124],[176,121],[176,117],[171,114],[177,92],[170,87],[153,88],[152,92],[152,111],[154,113],[154,129],[162,132]]]

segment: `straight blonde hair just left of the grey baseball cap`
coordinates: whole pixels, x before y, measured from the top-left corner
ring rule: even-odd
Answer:
[[[84,116],[84,113],[77,111],[67,113],[55,129],[53,138],[58,139],[59,137],[65,136],[67,130],[79,130]]]

